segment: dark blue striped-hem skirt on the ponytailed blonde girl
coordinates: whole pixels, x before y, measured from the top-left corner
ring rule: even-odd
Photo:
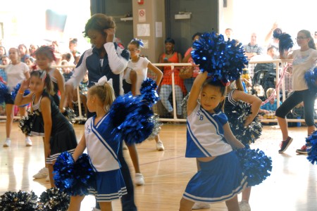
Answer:
[[[89,188],[89,194],[94,195],[97,202],[118,200],[127,193],[120,169],[97,172],[96,182]]]

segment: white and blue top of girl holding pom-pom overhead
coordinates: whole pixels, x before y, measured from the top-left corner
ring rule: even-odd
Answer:
[[[221,111],[209,113],[198,103],[187,116],[185,157],[206,158],[231,152],[232,147],[223,136],[223,125],[227,122],[227,116]]]

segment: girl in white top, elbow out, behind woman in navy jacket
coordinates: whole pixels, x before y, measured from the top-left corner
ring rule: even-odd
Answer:
[[[141,84],[147,79],[148,68],[154,72],[156,75],[156,84],[159,86],[161,79],[163,77],[163,72],[156,68],[147,58],[139,56],[141,53],[141,48],[143,47],[143,41],[141,39],[132,39],[128,45],[128,50],[130,51],[130,60],[128,63],[128,68],[125,71],[125,82],[131,84],[132,95],[136,96],[141,94]],[[127,90],[125,90],[127,92]],[[159,134],[154,137],[156,141],[156,149],[158,151],[163,151],[164,146],[159,138]],[[139,169],[139,158],[137,156],[137,148],[135,144],[128,145],[130,157],[135,167],[135,184],[143,185],[144,177]]]

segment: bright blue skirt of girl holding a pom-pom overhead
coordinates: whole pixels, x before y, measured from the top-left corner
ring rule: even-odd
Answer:
[[[190,179],[183,194],[187,200],[219,203],[230,200],[247,186],[247,177],[234,151],[199,165],[201,170]]]

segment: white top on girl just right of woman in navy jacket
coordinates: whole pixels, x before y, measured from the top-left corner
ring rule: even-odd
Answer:
[[[129,60],[128,68],[137,73],[136,94],[141,94],[139,89],[141,89],[142,82],[147,79],[147,65],[149,65],[149,60],[145,57],[139,57],[136,63]]]

